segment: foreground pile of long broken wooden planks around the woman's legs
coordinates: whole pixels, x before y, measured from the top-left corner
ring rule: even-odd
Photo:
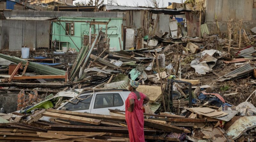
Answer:
[[[113,111],[113,110],[111,110]],[[150,114],[147,114],[150,115]],[[206,122],[204,119],[189,119],[176,115],[155,115],[168,117],[163,120],[145,119],[146,140],[180,141],[178,138],[162,137],[163,132],[190,133],[188,129],[171,125],[171,122]],[[49,121],[40,120],[48,116]],[[151,115],[150,115],[151,116]],[[182,125],[182,124],[180,124]],[[88,114],[56,109],[37,110],[26,123],[0,123],[0,141],[40,142],[129,142],[128,128],[124,116]]]

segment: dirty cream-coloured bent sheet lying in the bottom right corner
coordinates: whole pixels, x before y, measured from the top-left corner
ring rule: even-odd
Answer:
[[[247,130],[256,127],[256,116],[244,116],[237,119],[226,131],[234,140],[239,138]]]

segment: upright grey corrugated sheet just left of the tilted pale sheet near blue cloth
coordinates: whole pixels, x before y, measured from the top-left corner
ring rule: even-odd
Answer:
[[[170,21],[170,15],[164,15],[164,14],[159,15],[159,31],[163,33],[168,32],[167,36],[170,35],[169,21]]]

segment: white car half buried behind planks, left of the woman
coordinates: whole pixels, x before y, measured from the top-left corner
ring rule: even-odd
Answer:
[[[80,99],[73,97],[62,104],[59,110],[69,110],[76,112],[85,112],[93,114],[110,115],[108,109],[125,110],[125,100],[129,93],[125,89],[86,91],[80,94]]]

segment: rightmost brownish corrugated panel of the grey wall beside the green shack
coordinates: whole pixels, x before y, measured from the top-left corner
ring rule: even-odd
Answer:
[[[36,48],[49,48],[50,21],[36,21]]]

